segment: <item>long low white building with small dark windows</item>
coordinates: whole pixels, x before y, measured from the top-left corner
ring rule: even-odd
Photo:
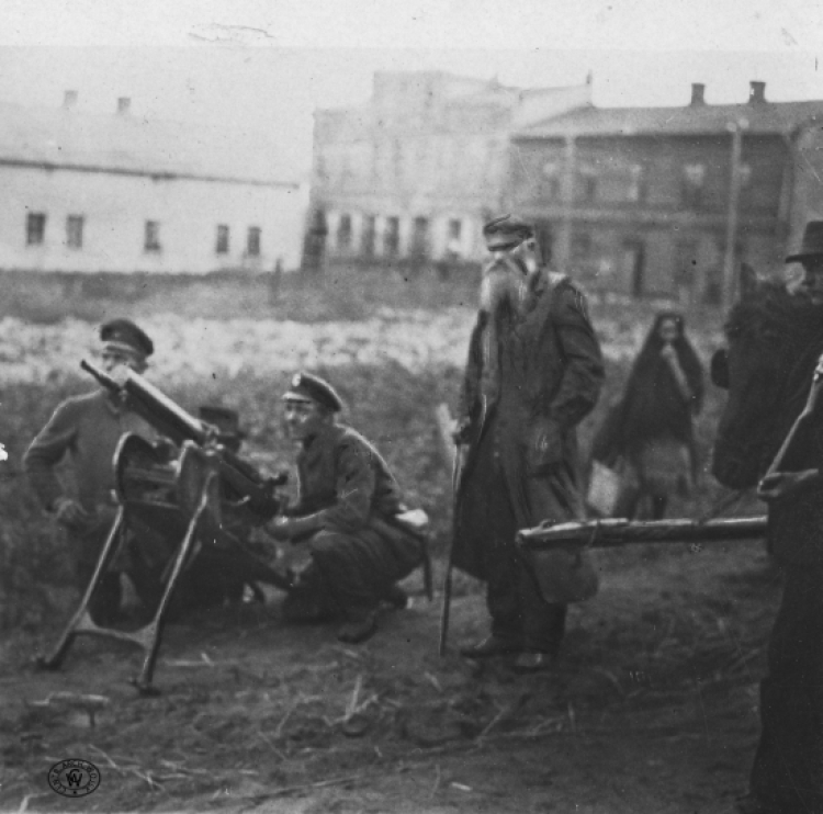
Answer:
[[[0,269],[205,273],[300,263],[307,193],[264,136],[0,104]]]

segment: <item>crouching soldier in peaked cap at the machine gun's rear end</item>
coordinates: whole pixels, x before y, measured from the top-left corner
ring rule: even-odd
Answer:
[[[297,373],[283,396],[290,437],[297,453],[298,497],[274,519],[279,540],[304,542],[312,564],[304,573],[307,591],[297,589],[284,602],[284,615],[300,619],[297,606],[307,593],[315,607],[309,617],[334,611],[345,623],[341,642],[357,644],[377,629],[381,601],[405,606],[395,583],[425,557],[425,538],[404,520],[401,490],[385,461],[361,434],[337,423],[342,403],[324,380]],[[331,601],[331,608],[316,602]],[[311,601],[309,601],[311,603]]]

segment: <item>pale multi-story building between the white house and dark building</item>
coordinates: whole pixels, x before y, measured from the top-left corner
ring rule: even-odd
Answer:
[[[522,90],[377,72],[363,108],[315,113],[312,207],[335,259],[477,260],[512,131],[588,105],[590,84]]]

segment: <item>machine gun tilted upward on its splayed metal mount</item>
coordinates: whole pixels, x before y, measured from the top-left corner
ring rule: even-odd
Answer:
[[[120,439],[113,461],[116,518],[79,608],[52,654],[38,658],[37,665],[58,669],[79,634],[131,642],[145,653],[133,683],[142,694],[155,694],[151,679],[164,622],[180,577],[195,558],[210,574],[230,578],[240,588],[256,583],[283,590],[292,587],[289,575],[257,556],[244,539],[245,529],[264,523],[280,511],[275,489],[285,483],[286,475],[264,477],[218,443],[217,428],[204,426],[138,373],[128,371],[121,385],[86,361],[81,366],[179,445],[180,454],[169,460],[157,445],[135,433]],[[168,542],[168,562],[158,575],[159,596],[153,597],[157,607],[153,619],[136,631],[102,628],[88,610],[103,575],[127,544],[127,532],[138,545],[146,534]]]

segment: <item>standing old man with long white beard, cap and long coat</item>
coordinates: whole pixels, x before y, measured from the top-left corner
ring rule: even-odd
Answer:
[[[575,428],[597,403],[604,366],[584,295],[541,265],[532,227],[507,215],[483,233],[493,260],[461,399],[456,440],[469,451],[452,562],[486,583],[492,633],[461,654],[516,654],[526,672],[551,666],[566,604],[546,601],[516,535],[584,517]]]

